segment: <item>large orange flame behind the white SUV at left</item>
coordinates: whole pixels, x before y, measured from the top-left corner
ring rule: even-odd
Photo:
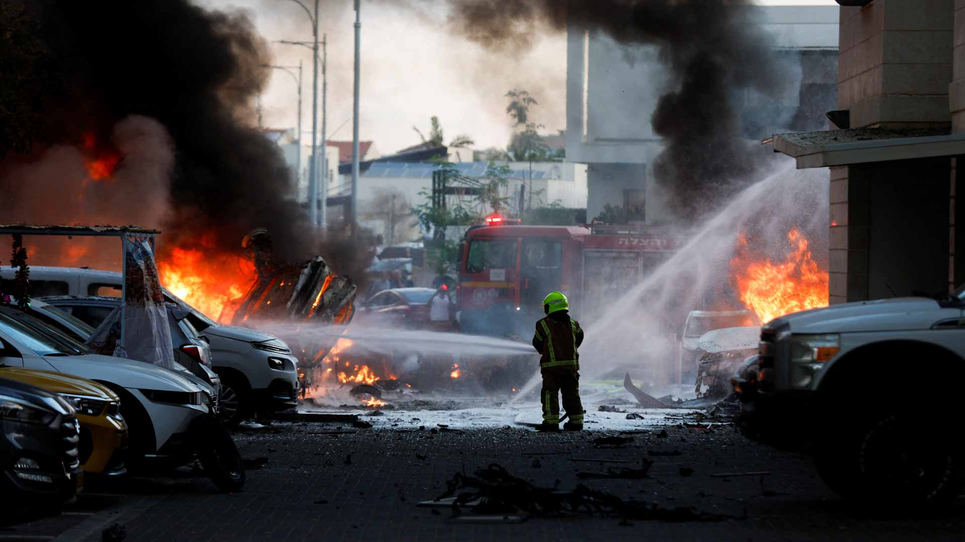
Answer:
[[[255,281],[255,267],[244,257],[207,248],[179,248],[158,257],[161,285],[195,309],[230,323],[237,303]]]

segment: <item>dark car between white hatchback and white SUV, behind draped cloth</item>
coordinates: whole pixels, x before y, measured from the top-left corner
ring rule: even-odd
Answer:
[[[108,319],[120,321],[120,314],[115,313],[120,311],[120,307],[121,298],[119,297],[63,295],[31,300],[31,309],[63,324],[68,335],[80,337],[82,338],[80,341],[85,343],[88,343],[88,339],[95,334],[93,331],[87,333],[87,329],[96,329]],[[168,303],[166,310],[171,342],[174,345],[175,363],[186,367],[192,374],[204,380],[215,390],[214,396],[219,397],[221,379],[210,368],[211,349],[207,338],[199,334],[188,321],[189,312],[186,309]],[[72,317],[64,316],[64,312]],[[79,328],[74,320],[80,320],[86,324],[85,328]]]

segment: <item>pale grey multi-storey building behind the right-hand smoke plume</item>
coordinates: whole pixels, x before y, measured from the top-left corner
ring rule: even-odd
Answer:
[[[780,125],[769,127],[825,127],[823,114],[833,108],[837,91],[838,8],[761,10],[762,24],[773,33],[778,53],[801,68],[800,92],[768,104],[778,115],[767,121],[781,119]],[[587,217],[593,219],[609,203],[642,206],[648,222],[661,220],[661,205],[648,197],[650,167],[662,147],[649,119],[668,83],[657,49],[623,45],[572,21],[566,54],[566,160],[588,165]],[[760,109],[759,98],[746,97],[747,111]],[[744,121],[748,139],[759,140],[761,129],[773,133],[751,122],[750,116]]]

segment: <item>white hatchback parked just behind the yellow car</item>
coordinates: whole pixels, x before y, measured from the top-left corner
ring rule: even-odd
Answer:
[[[231,435],[215,420],[212,396],[181,373],[124,358],[99,356],[31,312],[0,305],[0,363],[53,369],[95,380],[121,398],[132,464],[183,465],[195,456],[221,489],[244,484]]]

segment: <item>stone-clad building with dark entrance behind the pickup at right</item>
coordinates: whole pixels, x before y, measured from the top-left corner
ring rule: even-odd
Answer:
[[[965,283],[965,0],[842,1],[835,128],[774,136],[830,169],[831,303]]]

